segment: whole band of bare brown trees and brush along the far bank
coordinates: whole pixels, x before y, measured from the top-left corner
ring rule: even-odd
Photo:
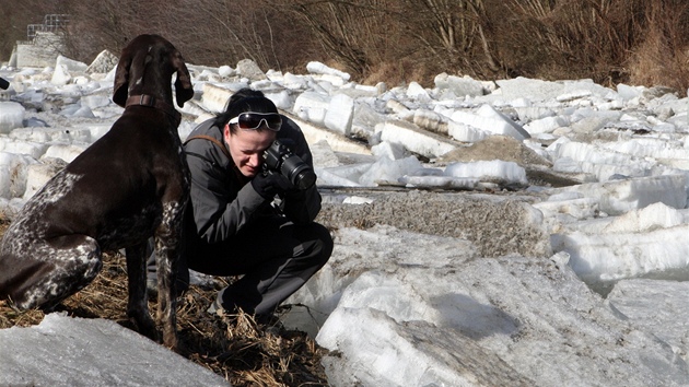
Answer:
[[[634,79],[689,85],[684,0],[0,0],[0,58],[47,13],[69,13],[68,52],[92,60],[141,33],[165,36],[189,62],[300,71],[310,60],[358,81],[421,81],[440,72]]]

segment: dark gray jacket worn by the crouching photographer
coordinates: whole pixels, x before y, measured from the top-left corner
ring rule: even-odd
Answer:
[[[191,172],[191,192],[185,216],[187,242],[194,249],[196,243],[214,244],[234,236],[244,225],[260,214],[275,213],[270,203],[261,198],[220,146],[207,139],[209,136],[224,145],[222,129],[214,119],[200,124],[187,138],[184,151]],[[191,139],[191,140],[190,140]],[[299,126],[282,116],[278,139],[313,168],[308,144]],[[320,195],[316,186],[304,191],[285,195],[280,211],[297,224],[312,222],[320,211]],[[192,223],[192,224],[189,224]],[[191,235],[189,235],[191,234]]]

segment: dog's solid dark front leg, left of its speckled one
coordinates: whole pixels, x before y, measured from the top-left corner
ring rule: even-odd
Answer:
[[[127,275],[129,301],[127,303],[127,316],[133,320],[139,333],[151,340],[157,341],[155,322],[149,313],[148,295],[145,291],[145,253],[147,243],[127,247]]]

